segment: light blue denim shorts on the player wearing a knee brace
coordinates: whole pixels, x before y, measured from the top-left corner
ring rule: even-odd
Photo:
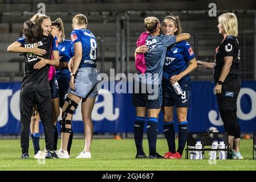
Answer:
[[[97,68],[78,68],[75,76],[76,89],[68,88],[68,92],[82,98],[97,97],[100,82],[100,72]]]

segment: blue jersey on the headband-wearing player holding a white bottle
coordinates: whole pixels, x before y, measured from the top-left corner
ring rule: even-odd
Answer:
[[[192,59],[194,59],[194,52],[189,43],[182,41],[173,47],[168,47],[164,63],[164,79],[169,80],[173,75],[183,72]],[[189,81],[189,74],[182,79]]]

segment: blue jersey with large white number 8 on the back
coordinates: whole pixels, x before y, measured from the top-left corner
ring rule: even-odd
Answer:
[[[97,44],[95,36],[86,29],[73,30],[71,41],[73,44],[82,43],[83,55],[78,68],[96,67]]]

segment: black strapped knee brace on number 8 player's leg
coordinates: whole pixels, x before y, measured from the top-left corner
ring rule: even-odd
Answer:
[[[60,126],[61,126],[61,128],[60,128],[61,133],[71,133],[72,130],[68,129],[66,127],[66,124],[71,125],[71,120],[66,120],[66,118],[67,118],[68,113],[71,115],[74,114],[74,110],[76,109],[76,107],[78,107],[78,104],[75,101],[71,100],[70,98],[67,97],[66,101],[68,102],[68,106],[67,106],[66,110],[64,110],[62,112],[62,120],[59,121]],[[74,110],[71,109],[72,106],[75,107]]]

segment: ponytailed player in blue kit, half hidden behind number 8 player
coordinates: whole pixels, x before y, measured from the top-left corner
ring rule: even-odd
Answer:
[[[58,86],[59,86],[59,103],[56,105],[62,108],[65,102],[65,95],[67,94],[67,90],[69,88],[69,82],[70,82],[70,71],[68,71],[68,61],[71,59],[72,56],[74,56],[74,53],[73,53],[74,48],[72,47],[73,45],[71,40],[65,39],[64,26],[63,26],[62,19],[57,18],[54,22],[52,22],[52,26],[56,27],[56,36],[58,37],[57,42],[58,42],[58,50],[59,50],[59,56],[60,56],[59,67],[55,73],[55,77],[56,77],[56,80],[58,80]],[[72,139],[73,139],[73,129],[71,127],[71,134],[70,134],[70,139],[68,140],[68,147],[67,147],[68,155],[70,155]],[[56,150],[57,142],[58,142],[58,130],[56,129],[56,120],[55,120],[54,150]]]

